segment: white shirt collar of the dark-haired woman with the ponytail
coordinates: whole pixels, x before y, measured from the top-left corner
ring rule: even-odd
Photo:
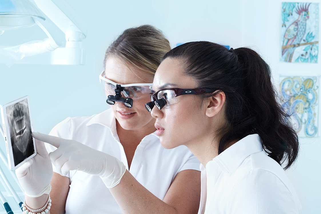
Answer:
[[[261,151],[263,151],[263,147],[260,136],[258,134],[247,135],[213,158],[213,161],[209,161],[205,168],[206,171],[220,168],[223,172],[231,175],[245,158]]]

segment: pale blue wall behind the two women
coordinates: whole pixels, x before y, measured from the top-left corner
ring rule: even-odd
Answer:
[[[271,64],[273,74],[300,74],[308,66],[309,75],[319,75],[319,64],[279,62],[281,1],[77,1],[66,0],[88,24],[84,40],[83,66],[0,64],[0,87],[10,88],[0,95],[4,104],[30,96],[35,130],[48,133],[68,116],[90,116],[106,109],[101,72],[104,51],[128,27],[152,24],[161,29],[171,46],[195,40],[209,40],[230,47],[259,49]],[[320,2],[320,1],[318,1]],[[0,46],[17,45],[45,34],[37,26],[4,32]],[[319,57],[320,62],[320,57]],[[278,78],[276,78],[278,80]],[[320,127],[320,126],[319,126]],[[301,139],[301,153],[289,175],[300,195],[304,213],[320,212],[320,139]],[[0,142],[4,149],[4,142]],[[1,189],[1,187],[0,187]]]

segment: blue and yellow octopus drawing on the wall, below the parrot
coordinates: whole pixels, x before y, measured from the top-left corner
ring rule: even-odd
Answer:
[[[317,135],[316,78],[287,77],[280,84],[282,108],[292,115],[293,128],[306,137]]]

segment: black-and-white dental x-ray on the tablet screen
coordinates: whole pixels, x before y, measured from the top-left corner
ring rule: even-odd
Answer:
[[[28,101],[24,99],[6,108],[14,165],[31,156],[35,150],[31,136]]]

